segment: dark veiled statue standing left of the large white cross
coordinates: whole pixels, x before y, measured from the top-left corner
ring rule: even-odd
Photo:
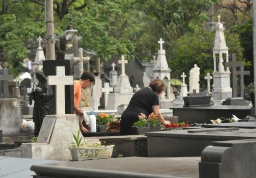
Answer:
[[[39,83],[30,94],[30,104],[33,99],[35,102],[32,117],[35,123],[34,135],[38,136],[43,119],[46,115],[52,114],[53,89],[51,85],[47,84],[47,77],[42,70],[36,73],[36,77]]]

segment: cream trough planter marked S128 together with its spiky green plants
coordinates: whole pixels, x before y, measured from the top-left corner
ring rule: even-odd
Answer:
[[[111,158],[114,145],[104,146],[100,141],[86,141],[81,135],[80,130],[78,134],[73,133],[75,142],[71,142],[69,147],[72,161],[81,161],[89,159],[105,159]]]

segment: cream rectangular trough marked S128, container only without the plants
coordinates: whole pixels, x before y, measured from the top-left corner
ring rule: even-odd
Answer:
[[[70,148],[72,161],[111,158],[114,145],[99,148]]]

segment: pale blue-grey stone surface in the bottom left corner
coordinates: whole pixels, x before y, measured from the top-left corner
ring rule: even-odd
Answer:
[[[34,171],[30,171],[32,165],[60,162],[55,160],[0,156],[0,178],[29,178],[31,175],[35,175]]]

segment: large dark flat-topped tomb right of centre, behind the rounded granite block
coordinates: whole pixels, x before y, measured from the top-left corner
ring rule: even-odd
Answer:
[[[211,145],[212,141],[256,138],[256,129],[237,129],[205,128],[204,132],[197,133],[190,133],[193,130],[146,133],[148,157],[200,156],[202,150]]]

